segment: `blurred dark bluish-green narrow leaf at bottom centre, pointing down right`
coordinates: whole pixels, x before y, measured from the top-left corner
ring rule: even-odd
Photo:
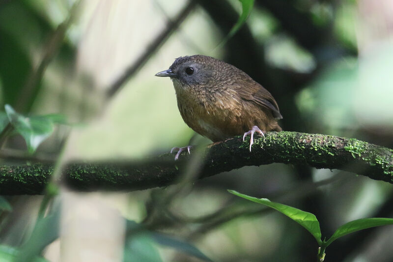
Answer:
[[[153,239],[160,245],[172,247],[180,252],[194,256],[202,261],[208,261],[208,262],[212,261],[205,254],[203,254],[199,249],[197,249],[195,246],[191,245],[186,241],[179,240],[169,235],[160,234],[160,233],[154,233]]]

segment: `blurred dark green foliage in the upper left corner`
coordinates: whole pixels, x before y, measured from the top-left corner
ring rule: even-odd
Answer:
[[[23,19],[15,19],[23,17]],[[45,32],[51,28],[45,20],[29,9],[24,1],[3,3],[0,8],[2,103],[15,106],[23,96],[31,74],[34,49],[42,48]],[[35,98],[31,97],[30,101]]]

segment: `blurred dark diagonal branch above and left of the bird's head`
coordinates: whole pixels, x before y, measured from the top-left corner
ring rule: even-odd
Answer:
[[[147,60],[150,58],[151,55],[154,54],[155,51],[158,50],[158,48],[165,43],[165,41],[168,39],[168,37],[180,26],[180,24],[188,17],[190,12],[194,10],[194,7],[196,6],[196,2],[191,0],[185,6],[183,9],[179,12],[177,17],[173,19],[173,21],[168,21],[168,26],[164,31],[162,31],[152,42],[151,44],[146,48],[146,51],[132,64],[130,65],[123,75],[121,75],[109,88],[108,91],[108,96],[111,97],[113,96],[117,90],[129,79],[131,76],[133,76],[135,73],[138,72],[138,70],[147,62]]]

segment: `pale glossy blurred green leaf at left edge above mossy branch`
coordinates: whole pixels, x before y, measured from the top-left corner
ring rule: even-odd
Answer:
[[[10,105],[5,105],[5,112],[16,132],[25,139],[29,153],[34,153],[37,147],[54,131],[51,118],[44,116],[25,117],[16,113]]]

